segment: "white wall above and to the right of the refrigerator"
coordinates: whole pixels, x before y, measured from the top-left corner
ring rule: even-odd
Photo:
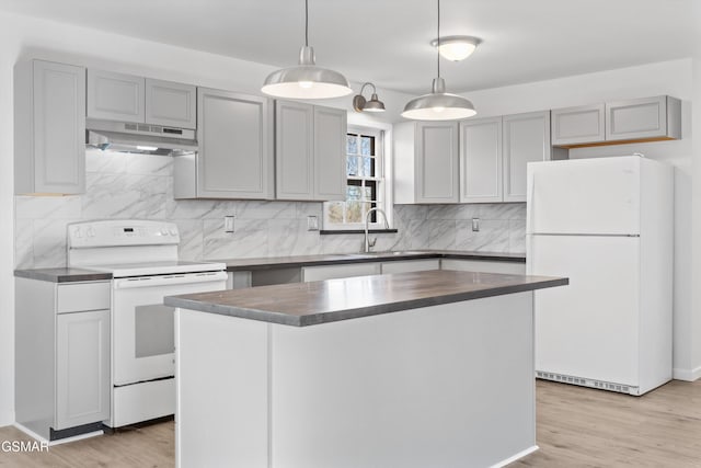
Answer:
[[[467,93],[479,112],[479,117],[520,112],[567,107],[582,104],[645,98],[669,94],[682,100],[682,139],[648,144],[618,145],[597,148],[582,148],[570,151],[571,158],[593,158],[642,152],[646,157],[666,161],[675,165],[675,378],[694,379],[701,377],[701,310],[692,304],[701,304],[701,293],[692,293],[692,155],[699,155],[701,140],[692,147],[691,114],[692,98],[701,103],[701,72],[696,61],[696,83],[692,82],[693,62],[689,59],[665,61],[639,67],[622,68],[596,73],[587,73],[555,80],[539,81],[505,88],[489,89]],[[696,87],[696,88],[694,88]],[[697,93],[694,95],[694,92]],[[699,106],[693,110],[697,128],[701,121]],[[699,130],[701,133],[701,130]],[[696,149],[693,149],[696,148]],[[701,181],[701,163],[694,161],[693,175]],[[701,198],[701,185],[693,185],[696,199]],[[694,221],[701,232],[701,214],[694,213]],[[699,218],[696,220],[696,218]],[[700,239],[701,236],[696,236]],[[696,251],[701,250],[701,243]],[[701,256],[701,255],[700,255]],[[696,262],[699,264],[699,261]],[[696,266],[694,266],[696,267]],[[698,288],[697,288],[698,290]],[[692,303],[692,294],[699,298]],[[696,342],[696,344],[694,344]]]

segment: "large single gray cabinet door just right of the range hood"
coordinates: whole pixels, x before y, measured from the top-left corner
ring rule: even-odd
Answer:
[[[271,198],[271,110],[265,98],[197,89],[197,196]]]

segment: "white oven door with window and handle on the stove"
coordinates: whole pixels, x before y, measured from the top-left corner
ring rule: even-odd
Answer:
[[[115,386],[174,375],[174,308],[163,297],[226,288],[226,272],[113,279],[112,376]]]

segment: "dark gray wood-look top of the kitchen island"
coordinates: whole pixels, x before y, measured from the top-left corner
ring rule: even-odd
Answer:
[[[306,327],[566,284],[561,277],[436,270],[169,296],[164,304]]]

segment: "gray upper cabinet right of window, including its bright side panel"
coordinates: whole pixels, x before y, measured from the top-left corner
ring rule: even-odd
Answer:
[[[395,125],[394,203],[458,203],[458,140],[457,122]]]

